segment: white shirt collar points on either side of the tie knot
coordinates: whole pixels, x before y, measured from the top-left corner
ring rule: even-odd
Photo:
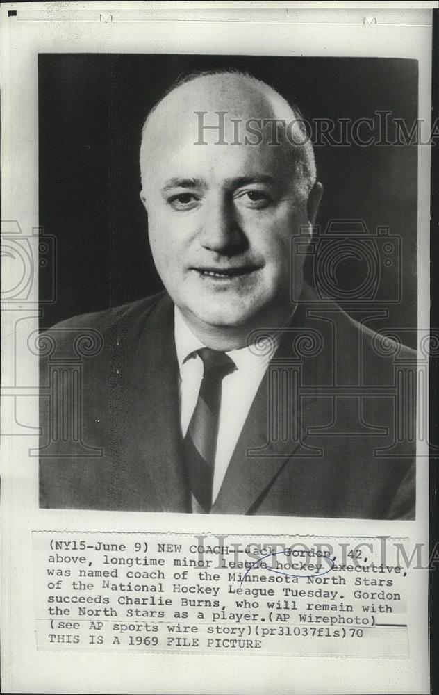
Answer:
[[[201,343],[197,336],[192,333],[178,306],[174,306],[174,335],[177,360],[181,373],[183,365],[190,359],[191,355],[201,347],[206,347],[206,345]],[[276,347],[279,345],[279,334],[273,334],[269,340],[271,341],[271,347],[268,350],[260,349],[258,345],[252,344],[247,347],[240,347],[239,350],[229,350],[226,354],[233,359],[238,370],[265,371]],[[265,343],[265,345],[268,345],[268,343]]]

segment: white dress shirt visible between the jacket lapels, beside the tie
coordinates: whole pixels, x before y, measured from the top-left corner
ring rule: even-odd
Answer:
[[[199,354],[194,354],[194,351],[206,345],[194,336],[177,307],[174,309],[174,318],[175,346],[180,370],[180,422],[181,433],[184,437],[197,404],[204,370],[201,357]],[[256,350],[251,350],[251,347],[241,347],[240,350],[226,352],[233,359],[236,369],[222,380],[213,474],[213,502],[217,498],[251,403],[276,345],[276,338],[273,338],[273,349],[267,351],[268,354],[258,354]]]

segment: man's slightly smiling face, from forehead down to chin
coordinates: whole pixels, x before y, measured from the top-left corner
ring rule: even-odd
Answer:
[[[195,329],[281,325],[292,273],[301,278],[301,260],[290,269],[290,238],[308,224],[290,153],[215,137],[194,144],[196,123],[163,142],[144,181],[158,273]]]

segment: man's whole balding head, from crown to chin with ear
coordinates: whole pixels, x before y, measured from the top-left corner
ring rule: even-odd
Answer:
[[[158,273],[201,341],[227,350],[282,325],[302,281],[290,238],[321,195],[288,102],[245,74],[194,76],[147,118],[140,170]]]

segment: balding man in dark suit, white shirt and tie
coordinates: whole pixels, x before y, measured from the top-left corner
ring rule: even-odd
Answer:
[[[140,196],[165,292],[44,334],[41,506],[414,518],[415,355],[304,284],[305,135],[240,73],[151,111]],[[81,336],[99,347],[72,377]]]

